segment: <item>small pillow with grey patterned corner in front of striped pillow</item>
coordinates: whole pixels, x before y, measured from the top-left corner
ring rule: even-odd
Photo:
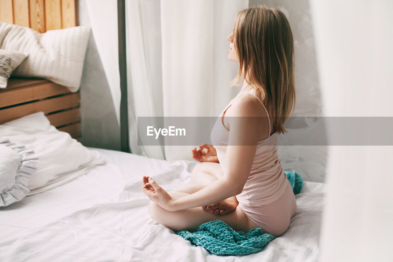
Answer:
[[[0,88],[6,88],[9,76],[26,59],[19,51],[0,49]]]

